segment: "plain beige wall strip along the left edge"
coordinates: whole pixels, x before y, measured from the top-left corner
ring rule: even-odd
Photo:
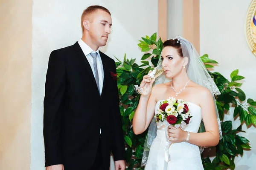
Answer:
[[[29,170],[32,0],[1,0],[0,16],[0,170]]]

